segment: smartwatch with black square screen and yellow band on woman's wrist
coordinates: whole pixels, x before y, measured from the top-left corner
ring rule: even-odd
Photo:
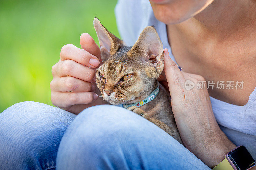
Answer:
[[[225,159],[212,170],[246,170],[255,166],[255,160],[244,146],[229,151]]]

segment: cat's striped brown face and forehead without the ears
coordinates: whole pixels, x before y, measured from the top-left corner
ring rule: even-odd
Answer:
[[[97,69],[96,84],[110,104],[136,100],[154,84],[155,79],[149,78],[143,69],[146,64],[127,55],[130,49],[120,48]]]

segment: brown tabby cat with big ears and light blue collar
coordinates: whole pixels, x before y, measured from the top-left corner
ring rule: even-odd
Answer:
[[[127,47],[98,18],[94,18],[93,25],[103,62],[95,77],[103,99],[112,105],[125,104],[125,108],[135,103],[127,109],[156,124],[183,144],[172,113],[170,95],[157,81],[164,68],[164,52],[155,28],[147,26],[136,43]],[[143,103],[146,104],[140,106]]]

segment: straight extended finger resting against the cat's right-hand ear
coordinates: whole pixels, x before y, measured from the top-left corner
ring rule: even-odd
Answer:
[[[180,78],[182,78],[183,76],[180,76],[181,73],[177,74],[177,71],[180,71],[180,70],[177,67],[176,63],[173,60],[171,60],[168,50],[167,51],[166,50],[167,49],[164,49],[164,72],[168,82],[171,99],[174,99],[177,97],[184,98],[184,91],[180,81]],[[178,68],[178,70],[176,69],[176,67]]]

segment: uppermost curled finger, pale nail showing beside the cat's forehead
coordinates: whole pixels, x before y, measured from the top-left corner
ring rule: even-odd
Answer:
[[[60,59],[61,61],[68,59],[74,60],[77,63],[92,68],[98,67],[100,64],[100,61],[96,56],[92,55],[88,51],[85,51],[84,49],[74,46],[73,44],[67,44],[61,48]]]

